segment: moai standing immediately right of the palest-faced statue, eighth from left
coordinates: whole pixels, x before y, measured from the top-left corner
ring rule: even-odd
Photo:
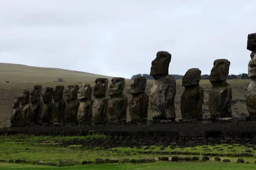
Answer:
[[[98,78],[95,80],[95,83],[92,121],[95,123],[104,123],[107,121],[106,111],[109,98],[106,97],[106,89],[108,88],[109,80]]]

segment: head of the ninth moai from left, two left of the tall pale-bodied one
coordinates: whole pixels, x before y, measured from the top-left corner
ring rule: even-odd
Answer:
[[[122,94],[125,88],[125,79],[120,77],[114,77],[111,80],[111,85],[109,89],[109,95]]]

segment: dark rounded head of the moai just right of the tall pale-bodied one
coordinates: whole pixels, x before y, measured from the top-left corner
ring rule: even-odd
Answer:
[[[199,84],[201,80],[201,71],[198,68],[191,68],[187,70],[182,78],[182,86],[192,86]]]

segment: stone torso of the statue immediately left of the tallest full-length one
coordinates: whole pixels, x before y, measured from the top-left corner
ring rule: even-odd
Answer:
[[[148,108],[148,95],[146,92],[140,92],[138,94],[132,94],[130,102],[130,117],[133,120],[147,120],[147,108]]]

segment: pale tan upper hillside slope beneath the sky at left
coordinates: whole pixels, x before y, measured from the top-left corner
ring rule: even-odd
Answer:
[[[111,79],[109,76],[87,72],[0,63],[0,82],[53,82],[58,78],[66,82],[93,82],[97,78]]]

